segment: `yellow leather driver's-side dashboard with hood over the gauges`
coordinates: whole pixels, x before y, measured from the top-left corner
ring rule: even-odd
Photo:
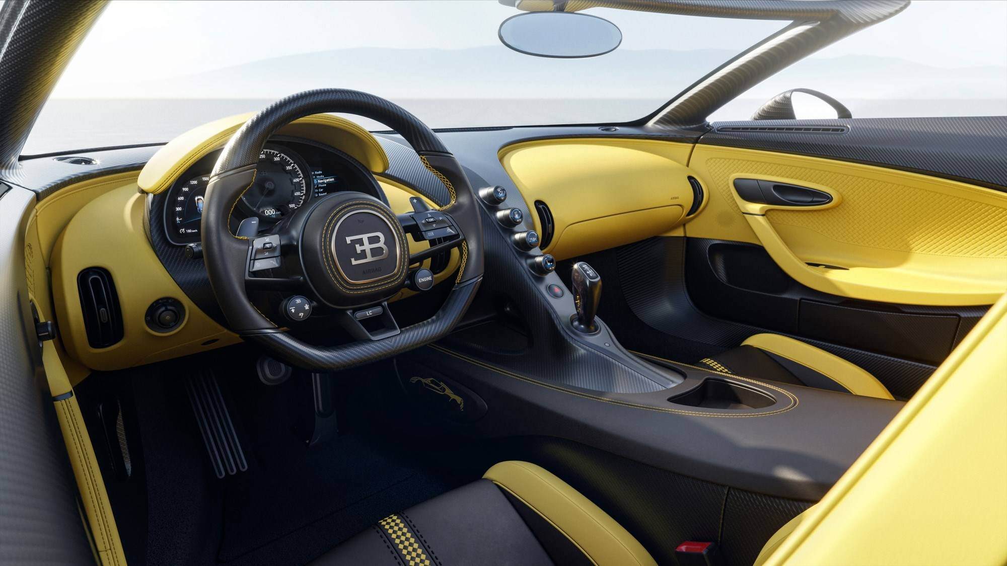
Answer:
[[[231,117],[195,128],[161,148],[144,169],[89,179],[41,200],[28,226],[32,299],[43,320],[55,319],[56,351],[73,384],[90,370],[117,370],[196,353],[240,341],[192,303],[178,287],[151,247],[144,231],[147,192],[169,187],[192,163],[220,149],[248,116]],[[388,158],[369,132],[342,118],[316,115],[282,129],[284,135],[332,145],[361,160],[372,171],[384,171]],[[392,209],[412,209],[410,196],[422,196],[397,181],[378,176]],[[429,199],[428,205],[434,206]],[[410,242],[410,250],[428,247]],[[440,282],[457,268],[451,252]],[[429,265],[430,260],[427,260]],[[123,316],[123,339],[106,348],[88,343],[78,290],[83,269],[100,267],[112,275]],[[51,273],[51,288],[46,284]],[[392,300],[413,294],[404,289]],[[176,328],[154,332],[145,323],[150,304],[160,298],[179,301],[185,314]],[[48,307],[52,304],[52,309]]]

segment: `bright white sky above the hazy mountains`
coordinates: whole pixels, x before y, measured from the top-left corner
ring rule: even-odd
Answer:
[[[75,55],[53,97],[110,96],[111,89],[103,86],[122,81],[122,69],[129,69],[129,81],[145,82],[335,48],[498,45],[499,22],[517,13],[495,0],[245,4],[238,8],[233,1],[116,0]],[[619,49],[739,51],[783,24],[604,8],[588,13],[620,27]],[[944,67],[1007,66],[1005,28],[1007,0],[915,0],[894,18],[815,56],[881,54]],[[95,64],[108,60],[115,64]],[[686,84],[698,78],[690,77]],[[192,97],[198,98],[198,85],[192,87]]]

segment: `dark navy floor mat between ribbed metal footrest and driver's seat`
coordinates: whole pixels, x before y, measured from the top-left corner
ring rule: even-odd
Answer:
[[[237,413],[250,439],[249,469],[224,481],[221,563],[301,564],[391,513],[474,478],[451,465],[451,453],[463,452],[444,453],[438,442],[407,434],[391,366],[375,370],[340,375],[340,434],[311,448],[303,440],[308,379],[250,389],[247,380],[219,372],[232,398],[240,398]]]

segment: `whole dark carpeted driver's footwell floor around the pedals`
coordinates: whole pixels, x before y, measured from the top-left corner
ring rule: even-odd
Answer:
[[[310,377],[295,374],[285,384],[265,386],[251,366],[254,356],[237,346],[185,365],[86,380],[101,380],[93,383],[103,384],[105,397],[119,392],[142,439],[142,450],[135,450],[142,461],[134,463],[142,473],[126,482],[145,490],[146,513],[138,498],[117,498],[128,491],[110,489],[117,518],[130,518],[130,528],[120,531],[132,562],[145,555],[150,565],[304,564],[389,514],[484,471],[464,441],[421,431],[403,405],[390,363],[338,376],[339,435],[308,447]],[[183,387],[196,366],[212,368],[218,377],[247,471],[224,479],[211,471]],[[106,483],[116,482],[111,473],[105,476]]]

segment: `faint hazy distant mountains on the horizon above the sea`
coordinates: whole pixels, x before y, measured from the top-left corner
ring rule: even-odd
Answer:
[[[105,82],[103,87],[115,98],[271,99],[340,87],[395,99],[653,99],[670,98],[734,54],[728,49],[616,49],[589,59],[551,59],[502,45],[362,47],[265,58],[157,82]],[[858,98],[1004,98],[1007,67],[941,68],[872,55],[811,58],[746,96],[768,97],[784,90],[781,86],[837,96],[855,92]]]

